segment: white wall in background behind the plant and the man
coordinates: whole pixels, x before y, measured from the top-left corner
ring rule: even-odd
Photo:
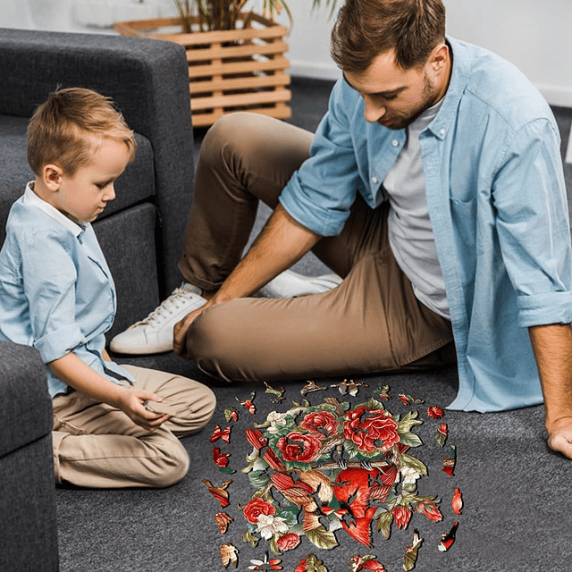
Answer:
[[[0,1],[0,27],[111,33],[110,29],[88,29],[74,21],[72,8],[81,0]],[[97,1],[102,5],[125,5],[135,0]],[[172,13],[172,0],[146,1],[156,2],[162,13]],[[290,73],[337,79],[340,71],[330,58],[333,21],[328,18],[329,9],[312,11],[312,0],[287,1],[294,15],[288,40]],[[341,2],[338,0],[338,4]],[[572,107],[572,0],[444,2],[451,36],[502,55],[526,73],[549,103]],[[259,4],[261,0],[250,0],[247,5]],[[279,20],[288,21],[285,15]]]

